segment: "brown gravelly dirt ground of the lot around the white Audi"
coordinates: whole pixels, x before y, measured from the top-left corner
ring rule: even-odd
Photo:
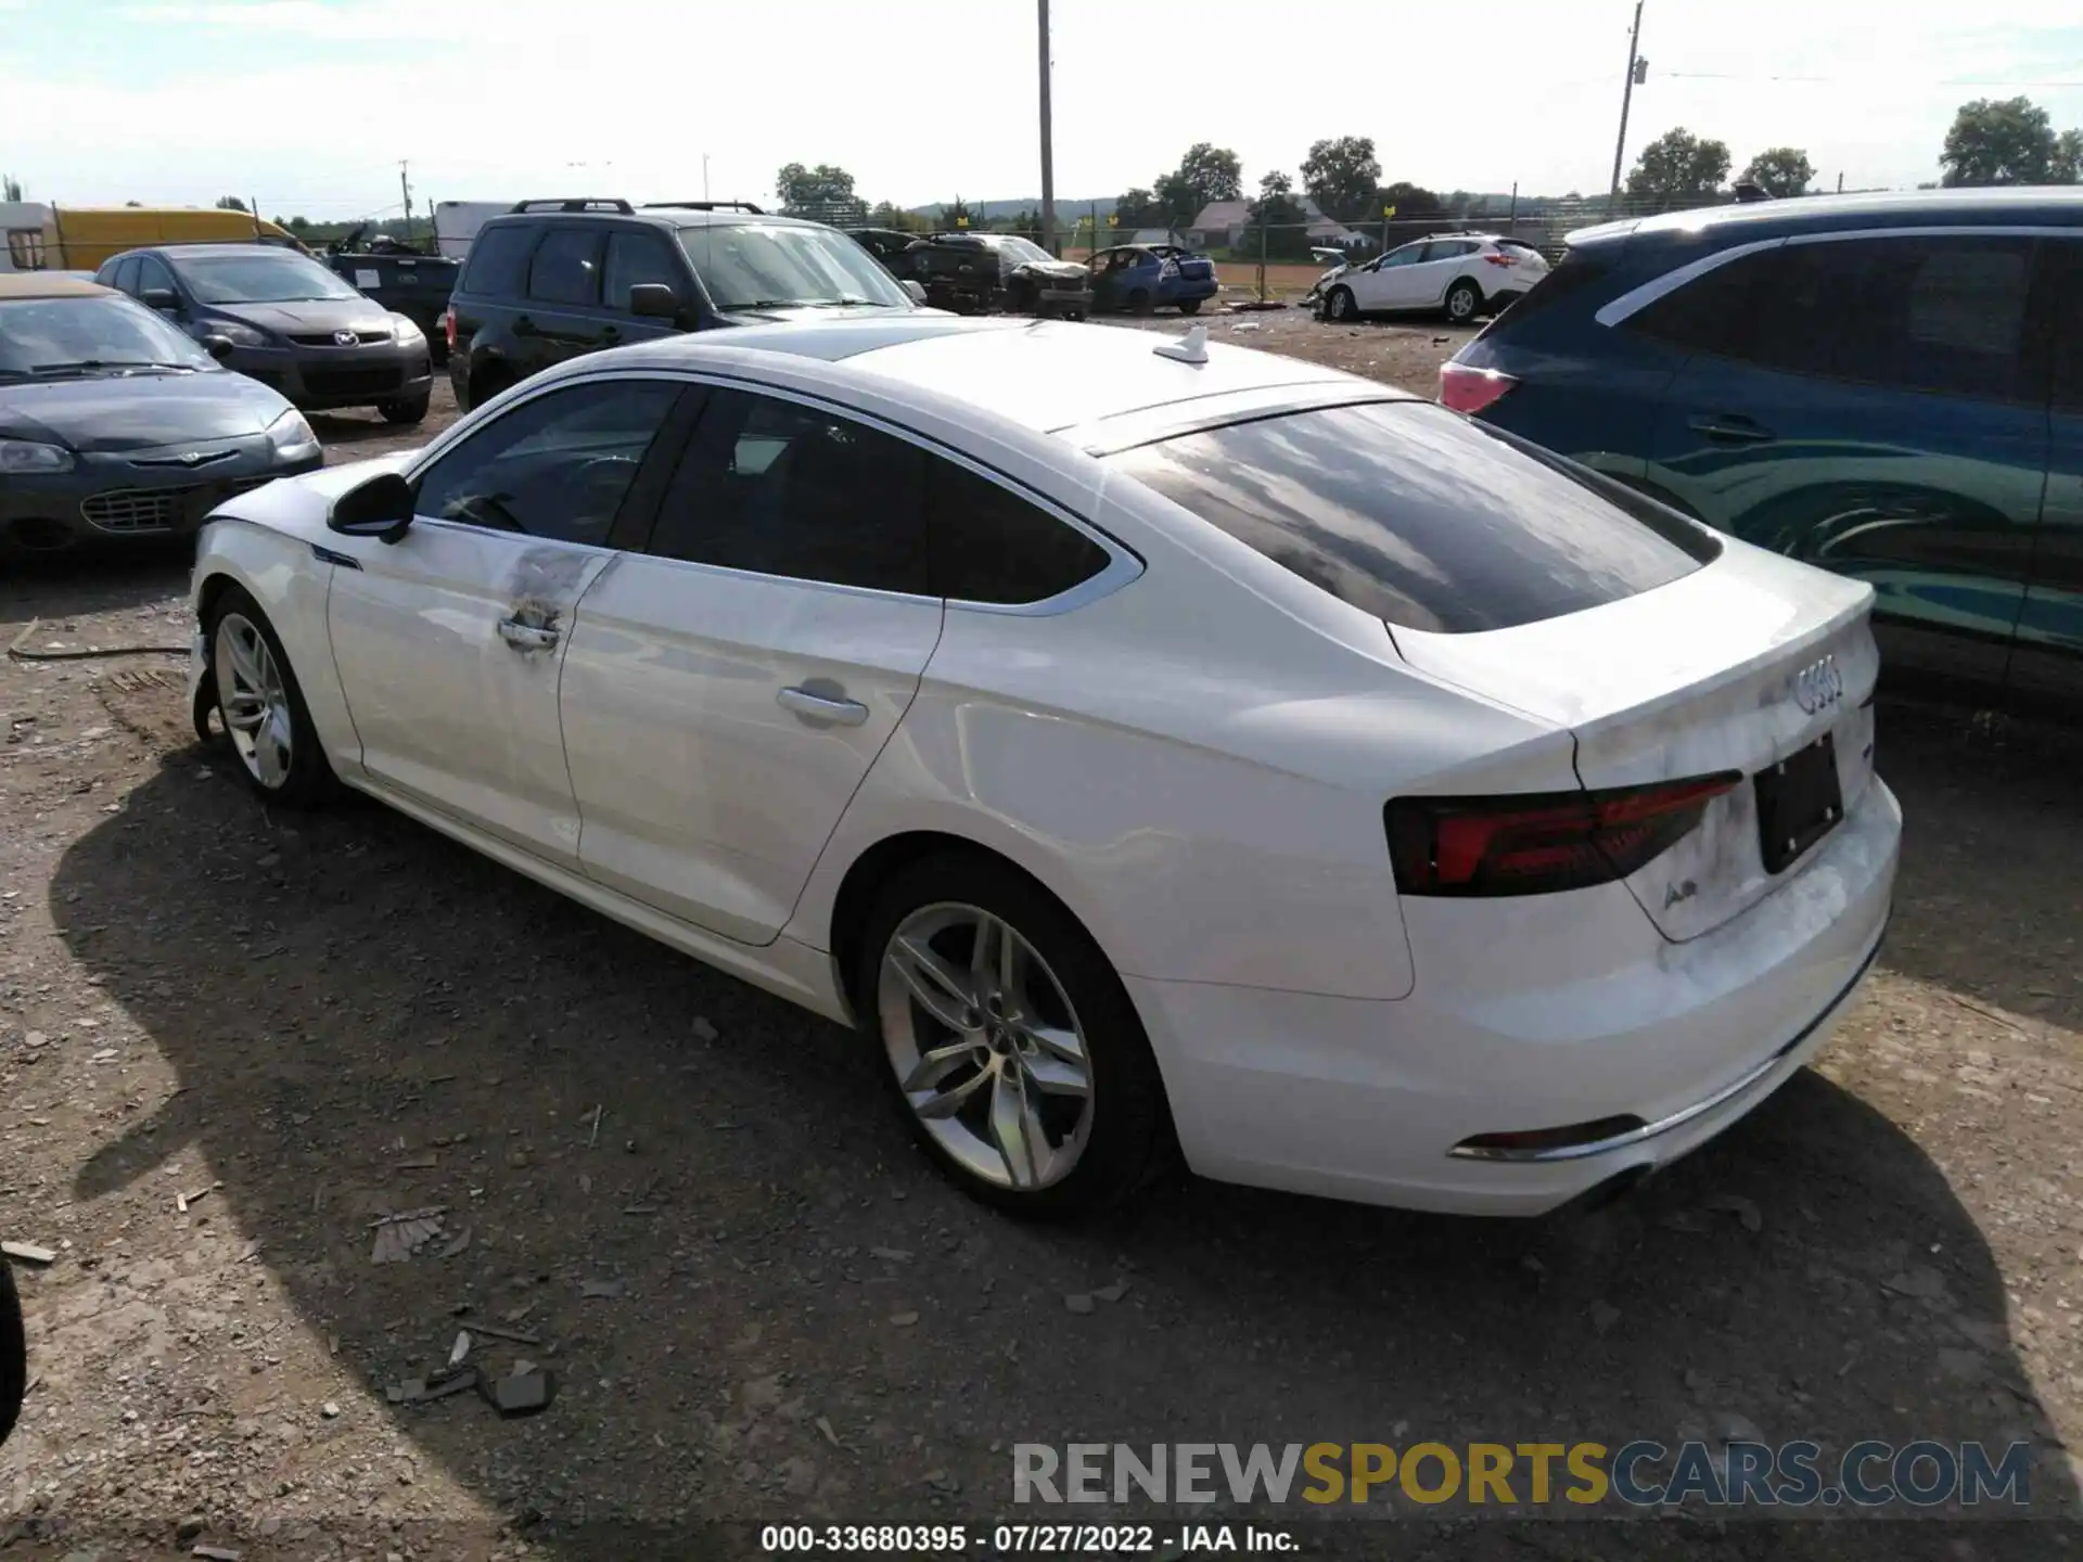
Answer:
[[[1412,389],[1458,335],[1210,325]],[[183,575],[0,577],[0,639],[179,646]],[[758,1556],[756,1522],[827,1518],[981,1556],[1064,1516],[1012,1508],[1019,1441],[1687,1435],[2029,1441],[2031,1518],[1260,1520],[1306,1556],[2079,1554],[2075,737],[1883,708],[1908,839],[1866,996],[1606,1214],[1179,1177],[1027,1229],[925,1166],[854,1035],[373,804],[269,812],[179,679],[0,664],[0,1237],[56,1250],[21,1270],[0,1558]],[[408,1210],[425,1245],[373,1262]],[[392,1404],[458,1331],[554,1404]]]

